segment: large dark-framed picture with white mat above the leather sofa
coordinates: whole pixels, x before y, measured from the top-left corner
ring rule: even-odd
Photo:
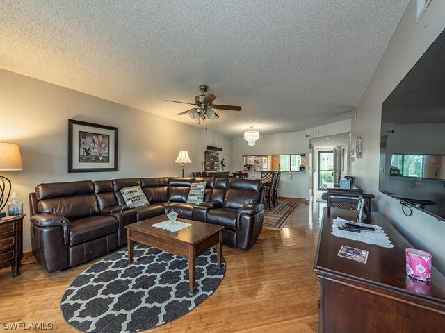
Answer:
[[[68,119],[68,172],[118,171],[117,127]]]

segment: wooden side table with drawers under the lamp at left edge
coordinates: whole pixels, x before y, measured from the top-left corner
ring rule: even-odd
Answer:
[[[26,214],[0,219],[0,268],[11,266],[13,278],[20,275],[23,257],[23,218]]]

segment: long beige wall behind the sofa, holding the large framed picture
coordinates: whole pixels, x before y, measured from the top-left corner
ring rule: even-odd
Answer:
[[[206,146],[223,148],[232,169],[232,139],[204,128],[149,114],[95,96],[0,69],[0,142],[19,144],[23,171],[1,171],[24,203],[24,250],[30,250],[28,194],[41,182],[181,176],[175,164],[183,148],[201,171]],[[119,128],[119,171],[67,173],[67,119]]]

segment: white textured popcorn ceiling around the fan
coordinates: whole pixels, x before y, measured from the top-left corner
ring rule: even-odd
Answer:
[[[350,117],[408,0],[0,2],[0,68],[238,137]],[[204,124],[200,125],[204,128]]]

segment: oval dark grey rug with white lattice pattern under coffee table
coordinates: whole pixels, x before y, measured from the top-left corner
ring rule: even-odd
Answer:
[[[224,260],[223,260],[224,262]],[[216,250],[197,257],[193,296],[188,295],[188,260],[139,244],[133,264],[127,250],[114,253],[81,273],[65,291],[65,321],[81,332],[140,332],[184,316],[218,288],[225,264]]]

